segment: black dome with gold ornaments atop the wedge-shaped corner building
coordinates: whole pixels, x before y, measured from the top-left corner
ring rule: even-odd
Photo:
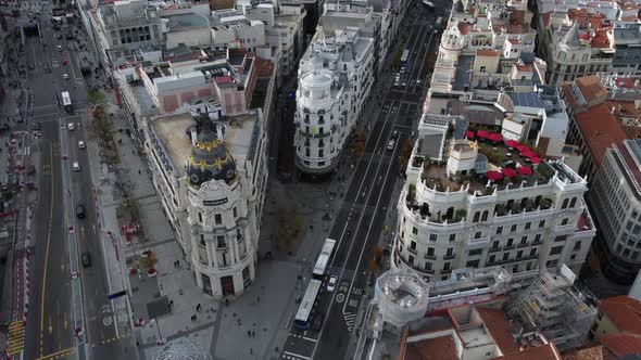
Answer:
[[[218,139],[216,125],[205,114],[194,119],[196,141],[187,159],[188,184],[198,189],[210,180],[230,182],[236,175],[236,163],[225,142]]]

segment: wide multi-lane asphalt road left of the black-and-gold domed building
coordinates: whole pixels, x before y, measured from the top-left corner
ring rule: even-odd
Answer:
[[[25,359],[66,357],[76,351],[72,309],[72,281],[81,282],[81,298],[86,314],[83,327],[88,349],[96,359],[124,359],[122,343],[114,329],[113,308],[106,299],[108,284],[98,232],[93,196],[93,180],[89,172],[86,150],[78,149],[78,141],[86,140],[86,128],[91,117],[87,101],[87,80],[83,78],[77,57],[81,56],[72,41],[56,39],[49,18],[39,22],[42,38],[27,38],[24,56],[35,68],[27,73],[23,83],[34,92],[33,121],[41,124],[39,196],[35,214],[35,258],[32,269],[32,293],[27,318]],[[56,47],[62,46],[62,51]],[[63,62],[66,61],[66,65]],[[51,72],[46,72],[50,67]],[[64,74],[68,79],[64,79]],[[67,114],[61,105],[60,94],[68,91],[74,103],[74,114]],[[74,123],[76,129],[66,129]],[[62,127],[65,127],[62,129]],[[64,133],[63,133],[64,132]],[[65,139],[61,142],[60,134]],[[66,145],[65,149],[61,149]],[[63,158],[62,155],[67,155]],[[71,172],[70,189],[63,189],[62,171],[68,163],[78,162],[80,171]],[[63,168],[62,165],[66,166]],[[70,196],[71,195],[71,196]],[[63,196],[67,196],[71,213],[83,205],[86,217],[68,219],[65,224]],[[70,277],[68,227],[73,226],[76,248],[72,256],[87,252],[91,266],[81,268],[78,280]],[[81,323],[81,322],[80,322]],[[79,323],[77,324],[79,325]]]

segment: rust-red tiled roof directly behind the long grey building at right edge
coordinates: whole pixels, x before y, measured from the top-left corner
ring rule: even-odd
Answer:
[[[619,120],[609,113],[609,106],[605,102],[590,107],[589,111],[575,114],[575,121],[599,167],[603,163],[607,147],[615,142],[628,139]]]

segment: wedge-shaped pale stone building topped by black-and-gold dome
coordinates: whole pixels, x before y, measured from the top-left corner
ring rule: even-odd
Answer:
[[[267,139],[260,111],[227,117],[218,102],[199,106],[149,121],[150,168],[196,283],[234,297],[255,278]]]

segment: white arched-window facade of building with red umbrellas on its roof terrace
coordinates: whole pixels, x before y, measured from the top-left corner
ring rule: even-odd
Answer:
[[[539,165],[544,178],[520,185],[439,180],[485,171],[481,158],[474,142],[456,140],[444,169],[430,165],[409,173],[391,267],[414,269],[429,281],[447,280],[455,269],[492,266],[521,275],[563,263],[578,271],[595,235],[583,202],[587,181],[563,162]],[[437,171],[442,175],[428,175]]]

